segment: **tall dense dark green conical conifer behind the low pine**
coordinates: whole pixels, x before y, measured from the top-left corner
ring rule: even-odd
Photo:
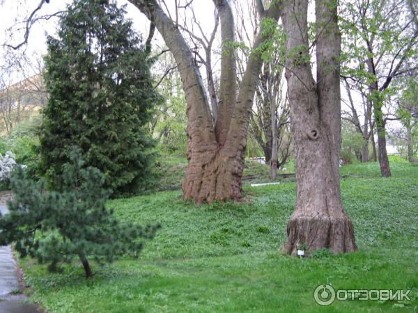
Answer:
[[[76,0],[61,19],[58,38],[47,40],[40,167],[51,186],[73,145],[115,194],[144,188],[149,177],[155,143],[146,123],[162,98],[152,85],[146,49],[124,14],[113,1]]]

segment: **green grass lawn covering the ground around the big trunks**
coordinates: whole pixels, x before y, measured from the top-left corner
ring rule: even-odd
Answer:
[[[33,300],[54,312],[417,312],[418,165],[341,168],[343,202],[359,250],[298,259],[281,253],[295,183],[251,188],[242,203],[197,206],[180,191],[109,201],[123,221],[160,222],[139,260],[79,264],[60,274],[22,260]],[[178,177],[181,179],[182,177]],[[412,300],[314,302],[318,284],[335,289],[412,289]]]

